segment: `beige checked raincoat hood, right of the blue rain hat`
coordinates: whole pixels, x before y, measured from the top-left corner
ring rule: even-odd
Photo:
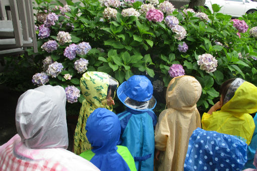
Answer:
[[[192,110],[196,108],[201,93],[202,87],[196,78],[187,75],[174,77],[167,87],[167,108]]]

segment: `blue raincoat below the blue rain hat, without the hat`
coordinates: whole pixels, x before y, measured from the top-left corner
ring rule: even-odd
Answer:
[[[120,145],[129,148],[137,170],[154,168],[154,126],[157,117],[152,110],[136,111],[126,108],[118,114],[121,126]]]

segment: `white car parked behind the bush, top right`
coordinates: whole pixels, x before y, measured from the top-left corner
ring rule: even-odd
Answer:
[[[257,11],[257,2],[250,0],[206,0],[205,6],[213,12],[212,4],[218,4],[222,7],[219,13],[232,17],[241,17],[245,13],[249,14]]]

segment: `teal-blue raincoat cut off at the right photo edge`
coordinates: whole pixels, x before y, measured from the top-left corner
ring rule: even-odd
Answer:
[[[251,138],[251,142],[247,147],[247,162],[244,165],[244,168],[256,168],[252,163],[254,159],[254,154],[257,149],[257,113],[253,118],[255,129]]]

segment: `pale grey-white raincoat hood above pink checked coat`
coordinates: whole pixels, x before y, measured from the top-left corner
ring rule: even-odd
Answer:
[[[66,93],[60,86],[42,85],[18,100],[16,127],[30,148],[67,148]]]

